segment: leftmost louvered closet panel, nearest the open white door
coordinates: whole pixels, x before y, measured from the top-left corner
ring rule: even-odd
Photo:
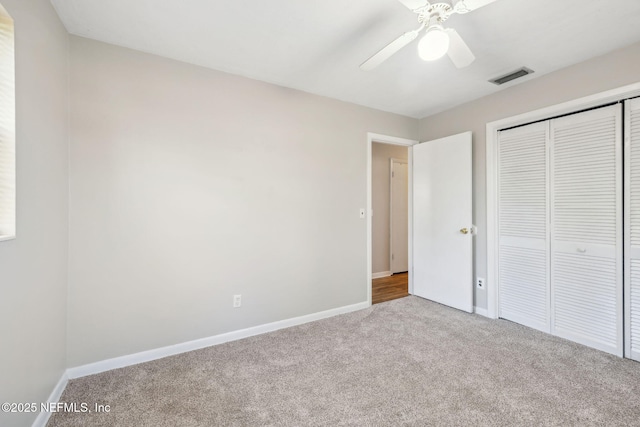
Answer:
[[[545,332],[549,323],[548,123],[500,131],[499,315]]]

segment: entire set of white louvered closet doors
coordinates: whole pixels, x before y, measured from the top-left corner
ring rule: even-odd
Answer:
[[[499,317],[638,359],[638,101],[498,133],[498,263]]]

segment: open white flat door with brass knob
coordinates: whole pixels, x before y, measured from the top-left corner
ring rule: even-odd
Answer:
[[[413,293],[473,312],[471,132],[413,146]]]

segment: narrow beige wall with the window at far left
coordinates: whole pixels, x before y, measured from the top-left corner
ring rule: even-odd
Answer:
[[[69,37],[48,0],[1,1],[16,31],[17,239],[0,242],[0,402],[43,402],[66,366]]]

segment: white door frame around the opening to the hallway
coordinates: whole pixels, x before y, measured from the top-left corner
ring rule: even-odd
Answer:
[[[408,185],[409,185],[409,293],[413,293],[413,214],[412,214],[412,202],[413,198],[413,150],[411,147],[418,143],[417,140],[399,138],[396,136],[382,135],[379,133],[367,132],[367,304],[371,306],[371,280],[373,272],[373,260],[372,260],[372,247],[373,247],[373,221],[371,219],[373,214],[373,195],[372,195],[372,183],[371,183],[371,164],[373,155],[373,143],[379,142],[382,144],[401,145],[408,148],[407,168],[408,168]],[[391,266],[389,266],[391,267]]]

